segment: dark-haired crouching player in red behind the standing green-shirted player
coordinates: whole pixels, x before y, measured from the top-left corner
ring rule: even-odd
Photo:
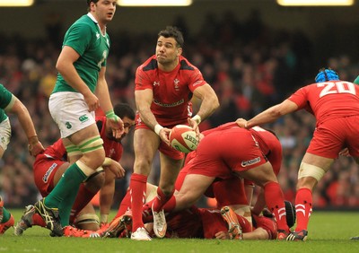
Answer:
[[[102,167],[87,179],[79,189],[71,210],[69,223],[73,226],[64,227],[65,236],[82,236],[83,233],[99,230],[100,223],[107,223],[110,205],[115,190],[115,179],[125,176],[125,170],[118,163],[122,156],[123,147],[121,140],[128,134],[131,127],[135,124],[135,111],[127,104],[118,104],[114,107],[114,112],[124,122],[124,134],[116,139],[112,136],[111,129],[106,125],[105,117],[96,118],[96,124],[101,133],[106,159]],[[62,139],[55,144],[48,146],[45,152],[36,156],[33,164],[35,184],[39,188],[41,196],[48,196],[51,190],[57,185],[65,170],[69,166],[66,161],[66,153]],[[76,155],[75,153],[72,155]],[[105,172],[105,173],[104,173]],[[101,189],[101,218],[99,220],[93,206],[90,204],[92,197]],[[39,214],[35,214],[33,205],[26,207],[21,220],[14,227],[15,235],[21,235],[23,231],[32,225],[46,227]]]

